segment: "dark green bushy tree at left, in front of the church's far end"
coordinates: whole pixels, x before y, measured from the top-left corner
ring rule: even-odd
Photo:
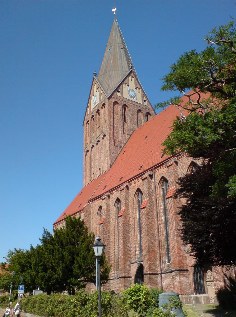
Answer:
[[[94,235],[80,218],[68,217],[53,234],[44,230],[41,244],[30,250],[10,251],[8,270],[14,286],[24,283],[27,291],[40,287],[47,293],[68,291],[95,282]],[[101,259],[101,279],[106,282],[109,265]],[[1,279],[0,279],[1,280]]]

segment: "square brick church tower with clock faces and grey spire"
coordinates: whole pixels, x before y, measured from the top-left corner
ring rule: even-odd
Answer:
[[[112,166],[130,135],[154,114],[114,19],[84,117],[84,185]]]

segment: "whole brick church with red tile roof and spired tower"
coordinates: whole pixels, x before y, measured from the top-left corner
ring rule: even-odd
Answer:
[[[84,187],[54,223],[81,217],[101,237],[112,266],[107,289],[144,283],[214,298],[217,270],[195,266],[173,198],[177,179],[196,163],[163,155],[179,115],[175,106],[155,114],[114,19],[84,115]]]

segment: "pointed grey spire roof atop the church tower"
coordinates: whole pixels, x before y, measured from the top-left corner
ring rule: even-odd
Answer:
[[[117,19],[114,19],[98,81],[109,96],[133,68]]]

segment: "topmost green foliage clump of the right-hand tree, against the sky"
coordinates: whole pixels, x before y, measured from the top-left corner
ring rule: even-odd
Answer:
[[[183,54],[164,77],[163,90],[199,89],[217,97],[236,95],[236,31],[234,22],[215,28],[206,38],[208,47]]]

